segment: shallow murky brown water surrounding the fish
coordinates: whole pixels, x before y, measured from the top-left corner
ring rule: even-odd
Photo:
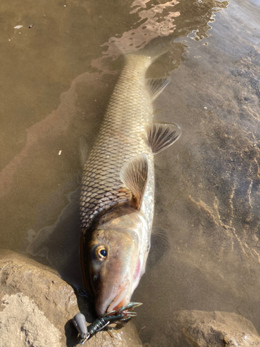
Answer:
[[[171,75],[155,118],[183,133],[155,157],[154,235],[135,323],[150,346],[171,345],[177,310],[235,312],[260,332],[259,1],[0,8],[1,247],[81,286],[80,143],[91,149],[98,133],[119,49],[165,50],[149,71]]]

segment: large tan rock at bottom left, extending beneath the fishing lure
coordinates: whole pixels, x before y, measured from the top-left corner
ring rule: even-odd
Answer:
[[[77,298],[73,288],[48,266],[0,250],[1,347],[75,346],[78,339],[71,319],[83,312],[91,322],[91,305]],[[114,332],[98,332],[87,346],[141,346],[134,325]]]

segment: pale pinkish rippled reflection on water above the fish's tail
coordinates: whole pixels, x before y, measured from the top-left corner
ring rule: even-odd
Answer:
[[[228,1],[214,0],[198,3],[173,0],[159,4],[146,0],[134,1],[130,6],[135,8],[130,12],[131,15],[135,14],[130,30],[110,37],[108,42],[102,45],[107,46],[107,51],[103,52],[104,56],[101,58],[92,60],[92,67],[108,72],[109,70],[104,70],[103,60],[110,57],[116,60],[122,52],[135,52],[146,47],[146,51],[153,56],[166,52],[152,67],[153,76],[170,75],[171,71],[180,65],[183,60],[182,53],[185,51],[184,44],[176,44],[173,40],[190,33],[193,33],[194,40],[208,37],[207,31],[211,28],[209,23],[215,20],[214,12],[227,8],[227,5]],[[161,37],[160,40],[155,40],[157,37]],[[149,44],[150,42],[153,43]],[[110,63],[110,69],[111,67]],[[118,65],[116,71],[117,69]],[[111,70],[109,72],[112,73]]]

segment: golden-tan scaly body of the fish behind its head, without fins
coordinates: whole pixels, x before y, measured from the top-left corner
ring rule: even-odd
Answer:
[[[80,197],[83,234],[98,214],[132,200],[132,193],[120,180],[122,167],[141,153],[150,157],[149,167],[153,164],[146,134],[146,125],[152,116],[145,82],[149,65],[149,57],[128,56],[114,88],[101,130],[83,169]]]

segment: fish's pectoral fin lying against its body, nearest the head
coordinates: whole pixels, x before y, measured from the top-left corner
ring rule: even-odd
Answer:
[[[130,189],[137,208],[140,208],[148,180],[147,156],[140,154],[127,162],[120,171],[120,179]]]

